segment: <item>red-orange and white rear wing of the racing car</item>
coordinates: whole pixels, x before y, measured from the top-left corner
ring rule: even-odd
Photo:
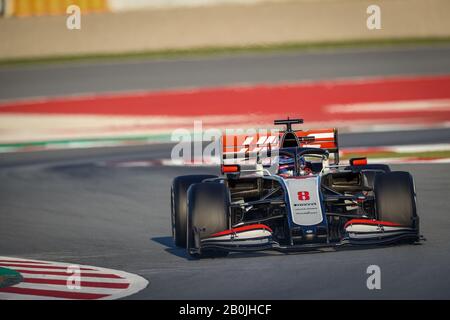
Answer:
[[[270,159],[283,147],[288,134],[297,140],[296,145],[299,147],[325,149],[333,156],[334,164],[339,163],[337,130],[319,129],[290,132],[272,130],[264,134],[224,134],[220,141],[222,165],[248,164],[252,160],[257,163],[260,158]]]

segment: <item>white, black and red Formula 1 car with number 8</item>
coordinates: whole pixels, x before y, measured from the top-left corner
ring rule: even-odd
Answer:
[[[299,123],[275,120],[285,126],[276,136],[223,135],[220,177],[176,177],[175,244],[201,258],[420,240],[410,173],[366,158],[341,165],[337,130],[294,130]]]

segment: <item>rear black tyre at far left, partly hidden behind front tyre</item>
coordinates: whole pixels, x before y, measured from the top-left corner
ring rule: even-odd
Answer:
[[[176,246],[186,248],[187,191],[194,183],[216,178],[213,175],[186,175],[173,179],[171,187],[172,237]]]

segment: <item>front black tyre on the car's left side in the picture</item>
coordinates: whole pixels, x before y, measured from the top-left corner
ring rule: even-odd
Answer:
[[[187,220],[187,254],[191,258],[224,257],[228,255],[223,250],[201,250],[192,253],[196,248],[195,232],[199,239],[229,229],[230,194],[222,183],[198,183],[188,191],[188,220]]]

